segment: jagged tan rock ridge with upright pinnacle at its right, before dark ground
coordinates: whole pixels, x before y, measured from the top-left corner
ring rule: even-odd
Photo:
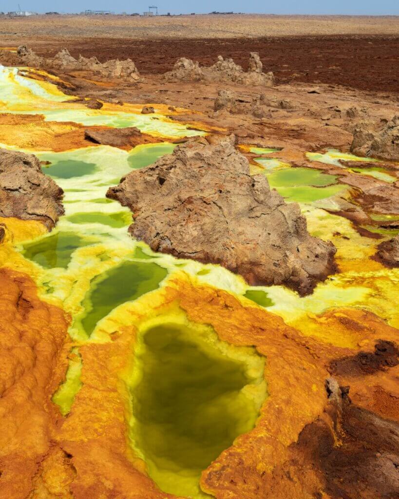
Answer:
[[[200,67],[198,62],[182,57],[176,62],[172,71],[164,74],[164,78],[167,81],[216,81],[272,87],[273,73],[263,73],[262,67],[257,52],[250,53],[247,72],[232,59],[224,59],[221,55],[217,57],[215,64],[209,67]]]

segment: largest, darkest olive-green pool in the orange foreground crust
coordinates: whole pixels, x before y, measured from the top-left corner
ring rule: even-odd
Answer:
[[[254,427],[259,405],[243,389],[259,380],[248,376],[243,361],[179,324],[147,330],[135,361],[134,441],[150,476],[165,492],[207,497],[198,486],[200,472]],[[256,361],[259,376],[263,361]]]

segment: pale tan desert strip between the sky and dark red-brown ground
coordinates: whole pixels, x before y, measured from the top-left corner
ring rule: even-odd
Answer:
[[[37,15],[1,18],[0,36],[230,38],[399,34],[399,16],[197,14],[179,16]]]

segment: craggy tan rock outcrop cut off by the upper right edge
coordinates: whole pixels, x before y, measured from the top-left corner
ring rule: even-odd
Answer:
[[[353,131],[351,152],[358,156],[399,161],[399,115],[383,125],[358,123]]]

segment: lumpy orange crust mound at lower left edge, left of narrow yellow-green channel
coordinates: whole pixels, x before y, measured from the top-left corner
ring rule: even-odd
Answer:
[[[50,399],[67,367],[68,317],[24,274],[0,269],[0,287],[0,489],[17,499],[29,497],[52,453],[58,410]]]

